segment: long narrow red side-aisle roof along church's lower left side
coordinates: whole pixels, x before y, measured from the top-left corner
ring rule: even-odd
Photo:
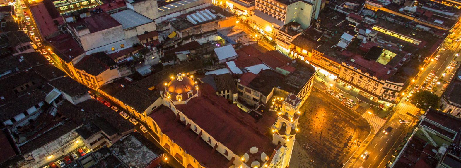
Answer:
[[[153,118],[163,134],[179,145],[189,155],[209,168],[223,168],[229,162],[223,155],[213,151],[213,147],[204,140],[196,140],[197,134],[184,129],[185,124],[177,122],[174,112],[166,106],[155,109],[149,117]]]

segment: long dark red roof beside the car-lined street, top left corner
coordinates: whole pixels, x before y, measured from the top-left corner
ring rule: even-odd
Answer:
[[[54,8],[53,6],[53,9],[51,10],[56,11],[56,8]],[[64,23],[64,20],[62,19],[62,17],[56,17],[53,19],[52,17],[53,11],[51,11],[50,13],[50,11],[47,10],[47,7],[45,6],[44,2],[39,2],[34,6],[30,6],[30,12],[32,12],[35,22],[37,23],[37,29],[40,30],[43,36],[47,36],[49,34],[59,32],[59,29],[54,24],[53,20],[57,20],[59,24]]]

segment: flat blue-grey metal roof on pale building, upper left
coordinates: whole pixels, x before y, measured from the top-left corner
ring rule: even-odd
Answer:
[[[113,13],[111,14],[111,17],[121,23],[123,29],[133,28],[154,22],[152,19],[149,19],[148,17],[145,17],[130,9]]]

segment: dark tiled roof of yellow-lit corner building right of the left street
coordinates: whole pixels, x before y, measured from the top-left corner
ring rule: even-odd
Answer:
[[[104,52],[97,52],[92,55],[83,57],[83,59],[75,65],[77,69],[83,70],[86,73],[97,76],[100,73],[109,69],[109,67],[117,65],[117,62],[112,60]]]

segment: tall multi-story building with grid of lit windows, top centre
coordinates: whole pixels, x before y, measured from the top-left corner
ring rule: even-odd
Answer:
[[[319,11],[320,0],[256,0],[249,23],[272,41],[289,22],[299,23],[302,29],[309,27]]]

